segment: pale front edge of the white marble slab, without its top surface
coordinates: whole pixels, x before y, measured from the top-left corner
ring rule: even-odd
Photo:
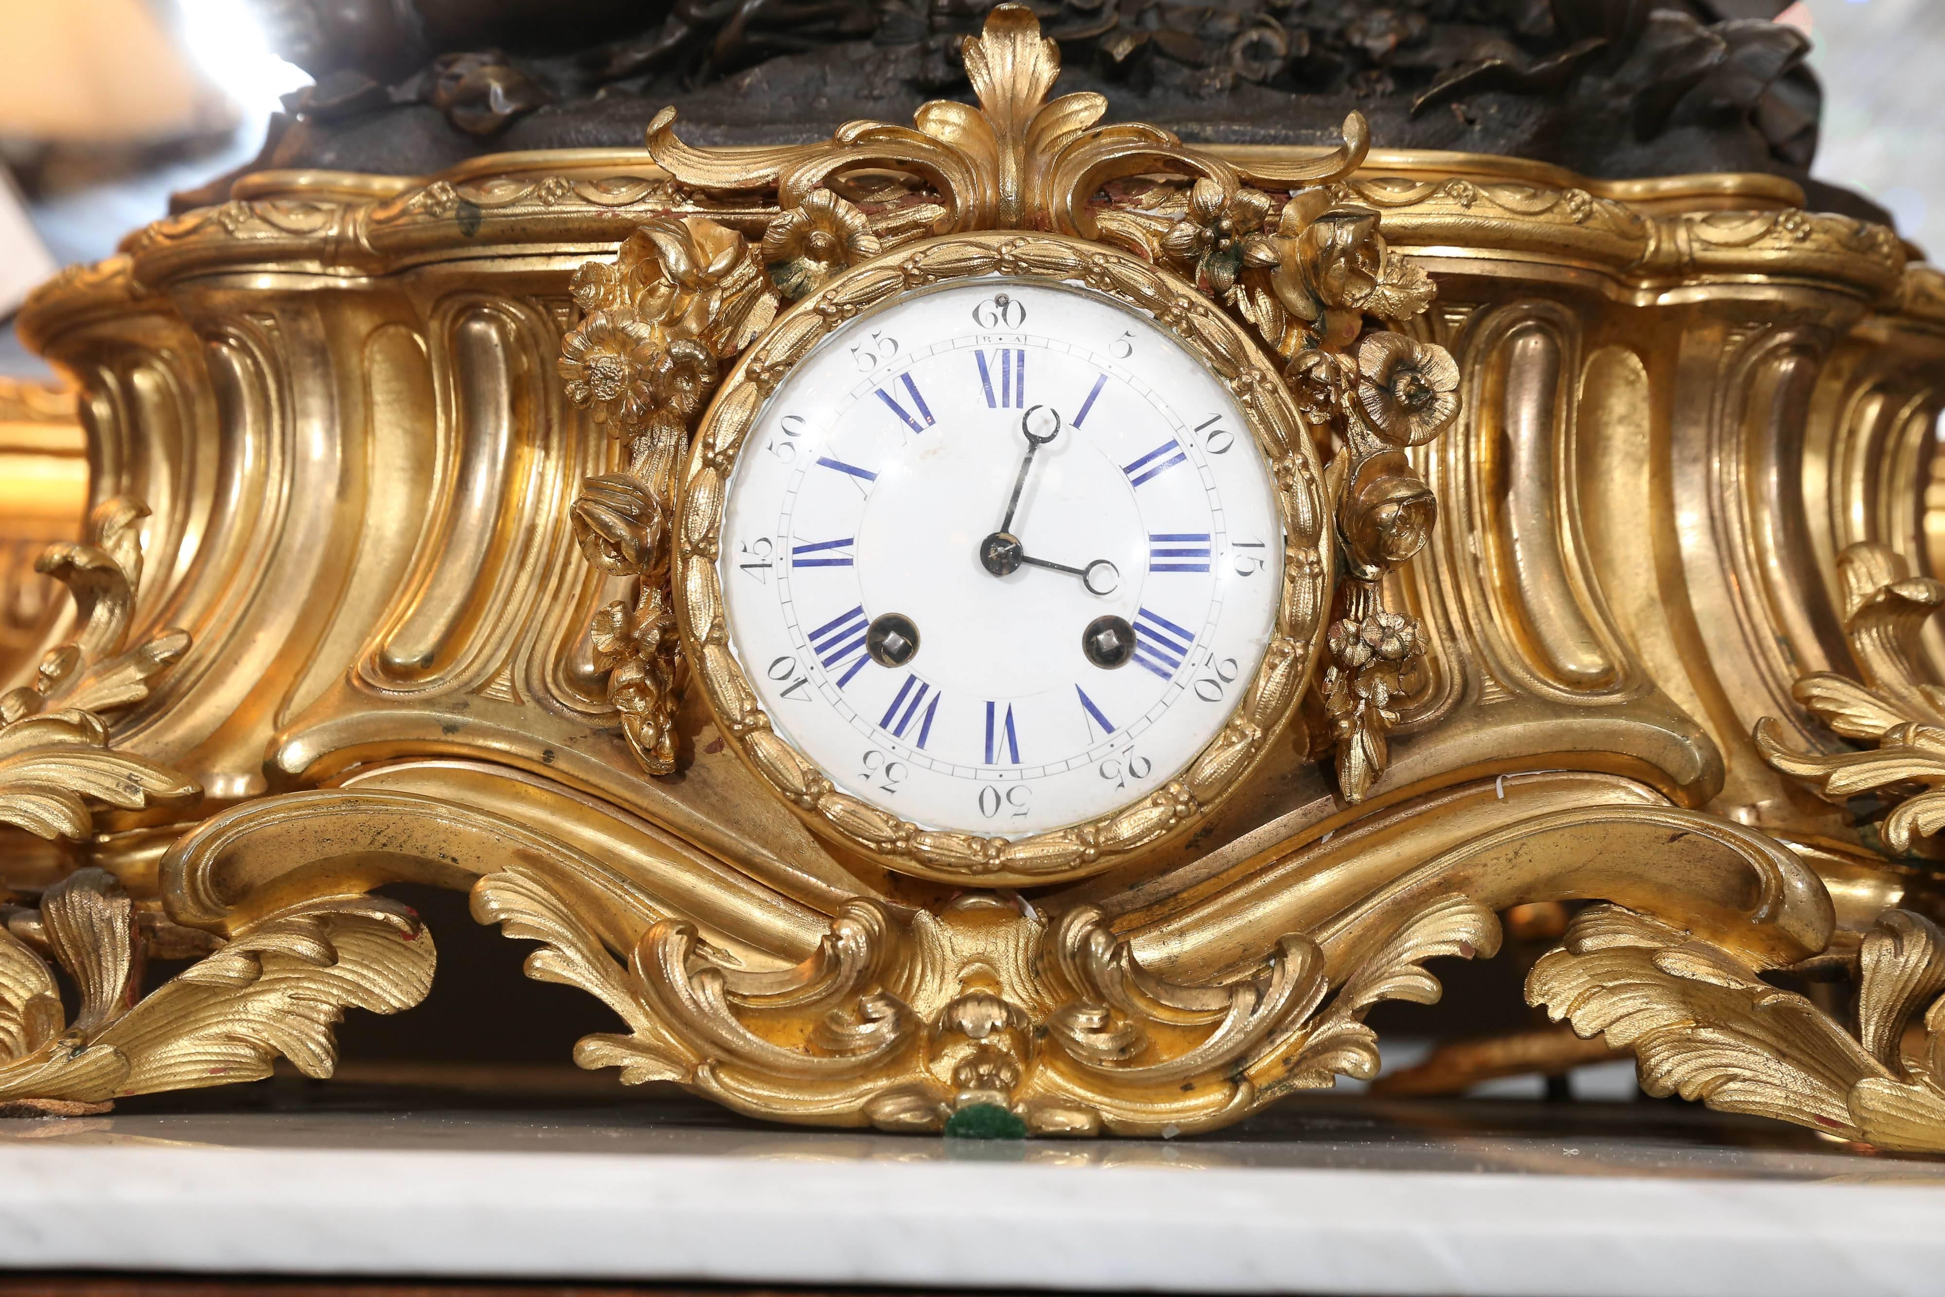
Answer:
[[[1400,1171],[0,1147],[0,1266],[953,1287],[1937,1293],[1945,1190]]]

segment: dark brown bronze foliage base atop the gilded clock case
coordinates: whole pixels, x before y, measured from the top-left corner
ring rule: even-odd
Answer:
[[[675,105],[700,144],[807,142],[969,97],[990,0],[259,0],[317,78],[251,169],[426,173],[467,156],[634,146]],[[1819,89],[1782,0],[1050,0],[1066,86],[1200,144],[1391,148],[1583,175],[1807,179]],[[204,191],[202,198],[212,194]],[[216,194],[220,196],[220,194]],[[1846,194],[1822,194],[1852,210]],[[1869,212],[1857,208],[1852,214]]]

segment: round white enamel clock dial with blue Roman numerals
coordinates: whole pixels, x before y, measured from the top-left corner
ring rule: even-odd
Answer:
[[[986,278],[786,375],[718,574],[743,673],[832,784],[1017,838],[1140,799],[1218,735],[1282,554],[1268,465],[1188,350],[1113,298]]]

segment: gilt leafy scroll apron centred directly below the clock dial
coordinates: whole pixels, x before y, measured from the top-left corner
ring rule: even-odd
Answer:
[[[936,1130],[972,1106],[1039,1134],[1218,1126],[1338,1073],[1375,1075],[1363,1013],[1435,999],[1418,964],[1490,955],[1500,939],[1490,910],[1449,894],[1338,984],[1303,935],[1255,976],[1177,984],[1144,968],[1099,910],[1048,922],[972,893],[910,920],[852,900],[807,961],[749,972],[681,920],[650,926],[620,963],[584,906],[529,867],[480,879],[473,908],[543,943],[531,976],[580,986],[626,1023],[580,1042],[584,1068],[677,1081],[755,1116],[887,1130]]]

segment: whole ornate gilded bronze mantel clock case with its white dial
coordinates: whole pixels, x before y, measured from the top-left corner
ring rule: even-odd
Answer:
[[[263,169],[37,294],[93,511],[0,698],[0,1104],[329,1075],[412,881],[630,1083],[1173,1134],[1570,902],[1527,996],[1651,1093],[1945,1149],[1945,280],[953,49],[910,126]]]

